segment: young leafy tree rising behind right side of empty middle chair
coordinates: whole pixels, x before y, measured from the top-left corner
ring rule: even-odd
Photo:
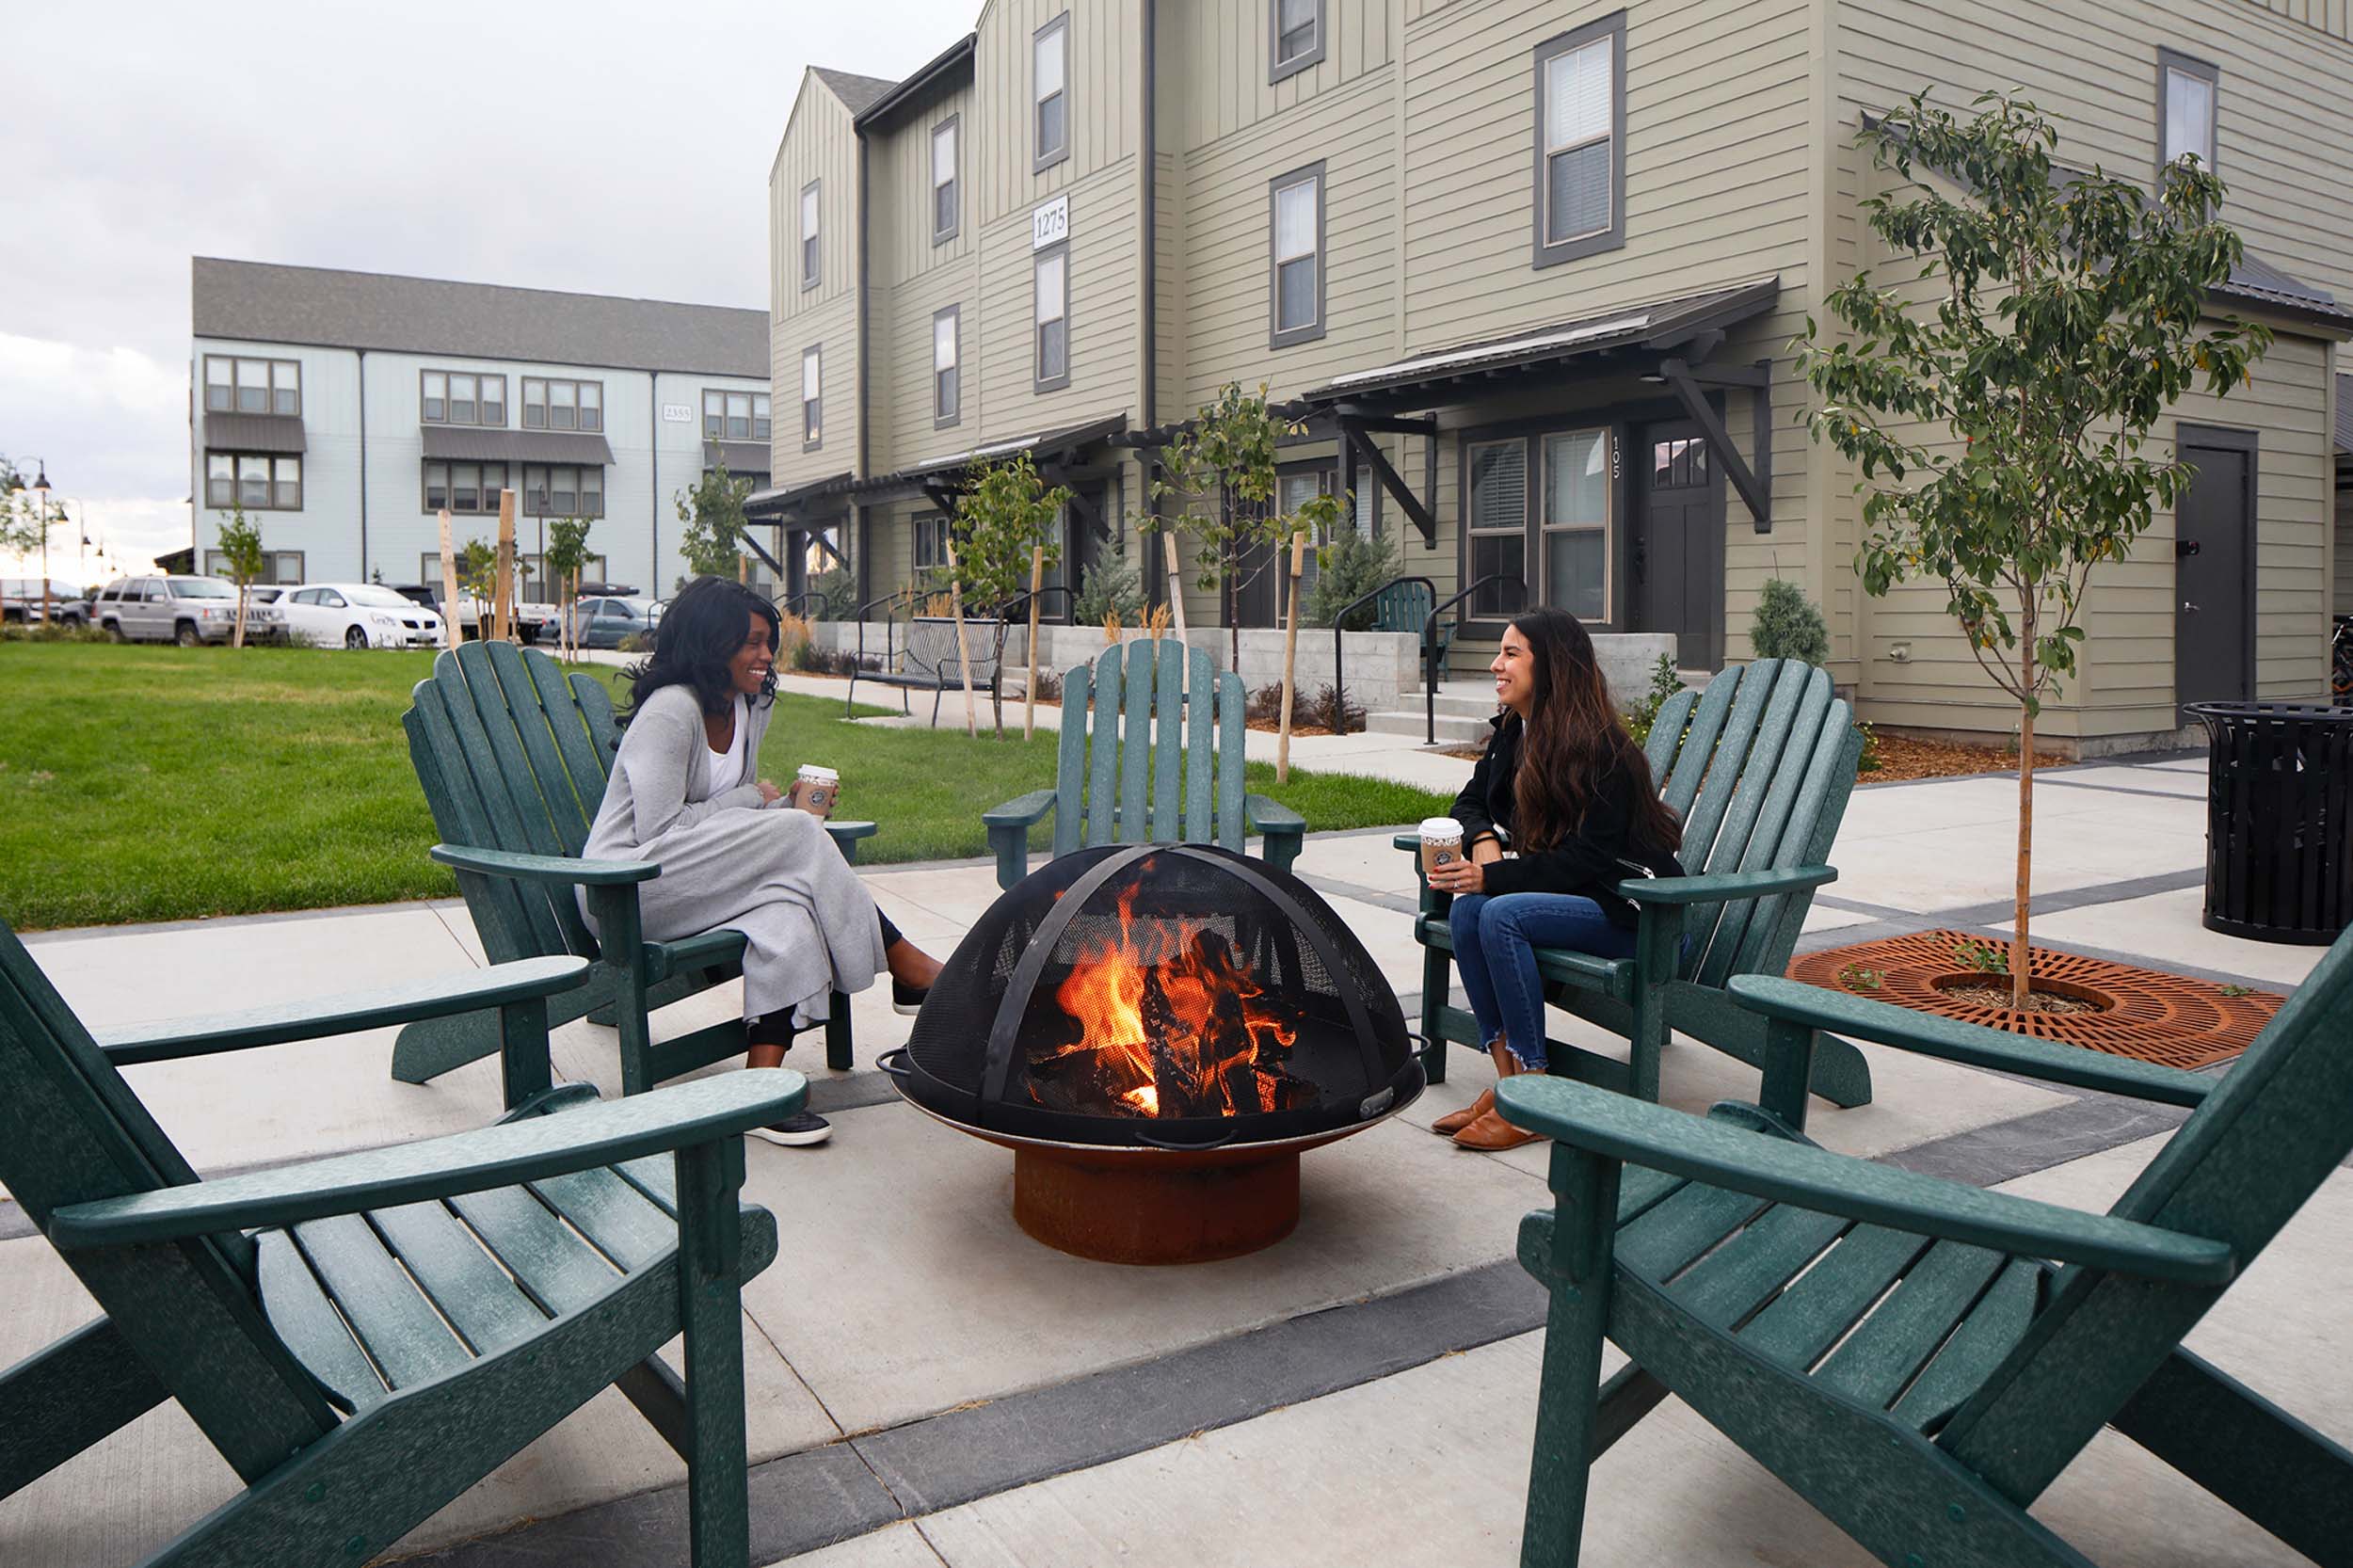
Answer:
[[[1209,501],[1209,511],[1136,518],[1144,530],[1184,527],[1195,539],[1193,565],[1200,589],[1226,591],[1226,626],[1233,631],[1233,666],[1242,666],[1242,589],[1275,565],[1278,544],[1289,544],[1299,518],[1275,511],[1275,443],[1299,426],[1266,405],[1266,386],[1245,393],[1226,384],[1217,403],[1193,414],[1193,426],[1160,452],[1151,483],[1153,501],[1169,497]],[[1329,499],[1329,497],[1327,497]]]

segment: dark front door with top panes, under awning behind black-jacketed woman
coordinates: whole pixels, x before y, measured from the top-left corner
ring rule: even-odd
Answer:
[[[1633,443],[1633,631],[1673,631],[1682,669],[1725,659],[1725,483],[1689,421]]]

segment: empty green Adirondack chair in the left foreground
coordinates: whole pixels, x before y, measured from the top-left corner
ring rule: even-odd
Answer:
[[[0,925],[0,1182],[104,1314],[0,1373],[0,1497],[176,1398],[245,1490],[151,1566],[360,1563],[619,1384],[687,1460],[694,1563],[741,1568],[739,1288],[776,1255],[736,1196],[741,1132],[807,1085],[548,1090],[548,998],[586,972],[529,958],[101,1043]],[[501,1123],[275,1170],[198,1180],[118,1071],[480,1008],[508,1085],[539,1083]],[[656,1356],[680,1333],[685,1384]]]

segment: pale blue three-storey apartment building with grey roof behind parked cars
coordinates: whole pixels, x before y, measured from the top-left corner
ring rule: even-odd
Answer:
[[[188,527],[261,525],[275,582],[438,582],[518,501],[527,584],[551,518],[588,518],[588,579],[668,593],[675,494],[711,466],[767,485],[760,311],[193,261]]]

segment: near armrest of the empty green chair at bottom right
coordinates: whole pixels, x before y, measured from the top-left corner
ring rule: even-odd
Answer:
[[[2221,1285],[2238,1271],[2221,1241],[1831,1154],[1569,1078],[1522,1074],[1494,1099],[1513,1125],[1562,1144],[1864,1224],[2181,1285]]]

